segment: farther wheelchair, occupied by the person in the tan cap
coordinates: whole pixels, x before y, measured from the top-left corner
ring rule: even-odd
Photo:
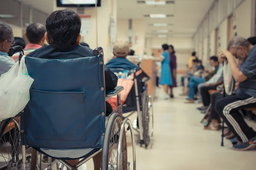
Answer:
[[[138,64],[140,65],[140,64]],[[148,75],[146,75],[142,69],[125,70],[122,68],[110,68],[112,72],[118,74],[119,72],[126,71],[128,75],[134,75],[134,85],[128,94],[125,103],[123,105],[123,113],[129,113],[129,117],[134,113],[138,114],[137,127],[134,128],[140,134],[140,146],[152,147],[153,145],[153,102],[152,98],[148,96],[147,81],[149,80]],[[124,117],[125,118],[125,117]]]

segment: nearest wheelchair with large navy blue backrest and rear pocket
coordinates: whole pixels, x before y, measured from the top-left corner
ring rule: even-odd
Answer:
[[[23,55],[20,46],[9,51],[17,52]],[[45,170],[54,165],[57,170],[62,170],[60,165],[78,170],[99,153],[102,153],[101,170],[128,170],[127,126],[136,170],[132,123],[122,119],[123,87],[105,91],[103,49],[94,49],[93,55],[25,58],[29,75],[34,79],[30,101],[17,116],[0,123],[0,170],[41,170],[38,153],[49,157]],[[116,95],[118,107],[106,117],[105,101]],[[67,162],[75,159],[81,161],[76,165]]]

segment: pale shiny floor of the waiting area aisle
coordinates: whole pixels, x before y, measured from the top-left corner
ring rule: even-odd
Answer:
[[[184,104],[180,90],[175,89],[175,99],[154,102],[154,145],[137,144],[137,170],[256,170],[256,150],[231,150],[228,140],[221,147],[221,132],[203,130],[203,115],[196,110],[200,104]],[[93,170],[92,161],[87,170]]]

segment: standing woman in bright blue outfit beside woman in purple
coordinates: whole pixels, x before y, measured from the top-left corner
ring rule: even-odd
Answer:
[[[162,99],[168,99],[169,86],[172,85],[172,72],[170,69],[169,45],[163,44],[162,48],[163,48],[163,54],[159,59],[162,62],[160,85],[163,85],[163,89],[164,89],[164,95]]]

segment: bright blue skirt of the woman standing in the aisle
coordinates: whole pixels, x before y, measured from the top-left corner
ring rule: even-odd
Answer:
[[[172,85],[172,72],[168,63],[163,63],[160,85]]]

